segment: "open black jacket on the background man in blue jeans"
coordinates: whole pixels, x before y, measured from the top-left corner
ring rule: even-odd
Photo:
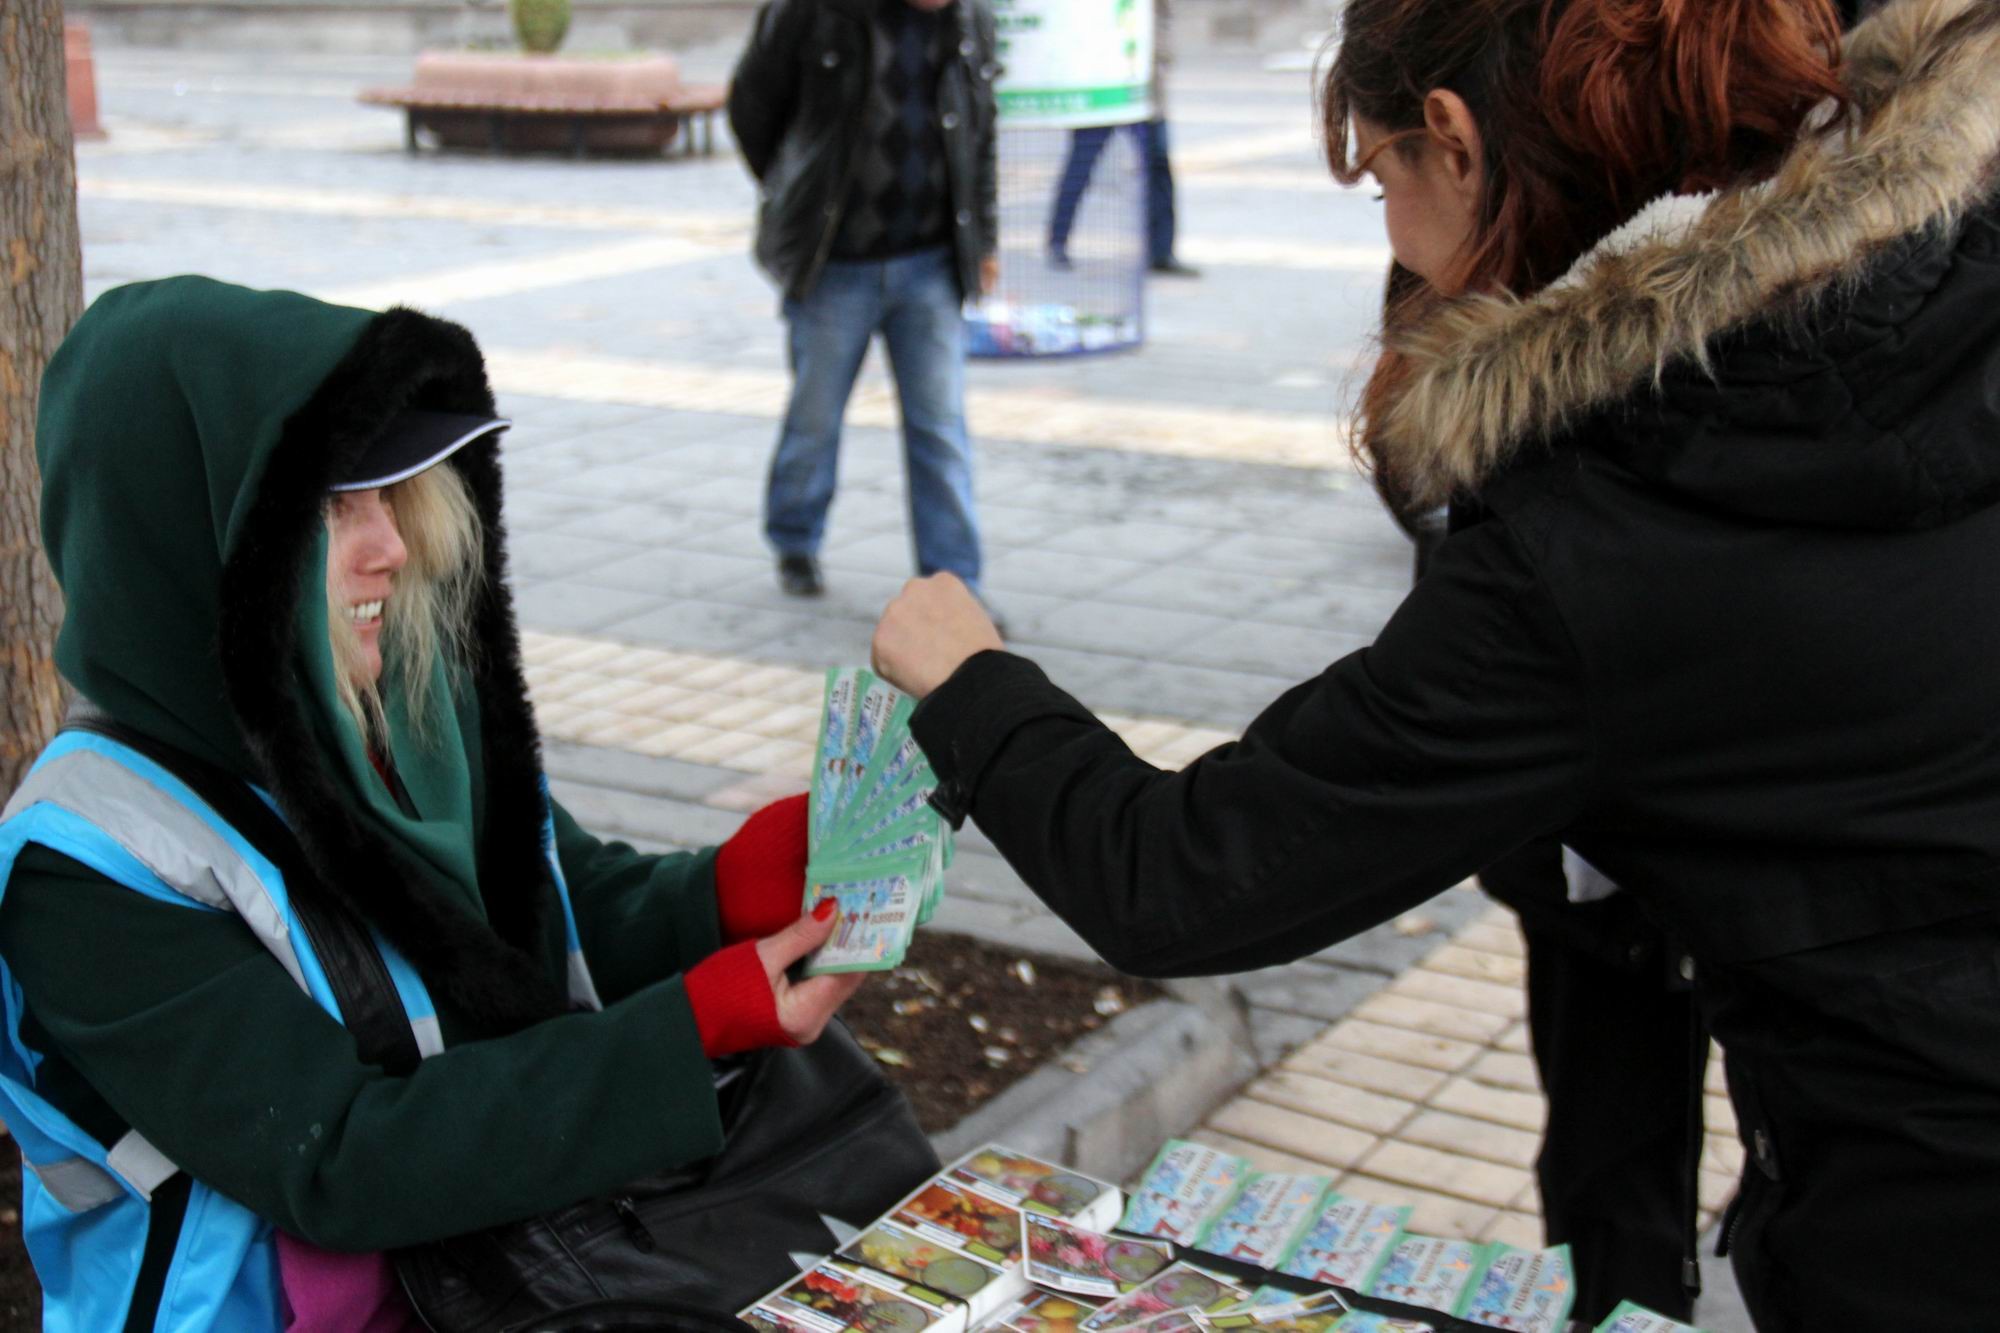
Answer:
[[[730,82],[730,132],[758,178],[756,260],[786,296],[812,292],[840,230],[848,168],[864,132],[878,0],[768,0]],[[994,18],[958,0],[958,36],[938,76],[958,282],[980,290],[1000,230],[994,204]]]

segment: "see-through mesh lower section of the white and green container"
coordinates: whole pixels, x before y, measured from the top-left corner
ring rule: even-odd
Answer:
[[[1000,130],[1000,286],[966,310],[974,356],[1076,356],[1144,340],[1138,130]]]

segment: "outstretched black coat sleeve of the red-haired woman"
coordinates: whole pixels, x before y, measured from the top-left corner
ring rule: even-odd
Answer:
[[[944,799],[1108,963],[1202,975],[1316,953],[1566,827],[1592,767],[1580,677],[1490,520],[1372,646],[1180,773],[1006,652],[968,660],[912,729]]]

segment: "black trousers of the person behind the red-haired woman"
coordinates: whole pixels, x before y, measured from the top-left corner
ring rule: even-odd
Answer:
[[[1528,941],[1528,1031],[1548,1095],[1536,1183],[1544,1235],[1576,1265],[1574,1317],[1594,1327],[1638,1301],[1690,1319],[1692,993],[1628,895],[1568,903],[1558,845],[1522,849],[1480,883]]]

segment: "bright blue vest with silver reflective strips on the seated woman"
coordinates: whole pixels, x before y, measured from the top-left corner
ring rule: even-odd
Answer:
[[[258,793],[264,797],[264,793]],[[264,797],[266,803],[270,797]],[[576,937],[556,827],[542,783],[542,851],[562,901],[570,1001],[598,1009]],[[336,1021],[340,1005],[300,927],[284,877],[178,777],[92,733],[64,733],[42,753],[0,817],[0,897],[28,843],[88,865],[134,893],[188,911],[234,913],[306,995]],[[374,933],[402,997],[416,1049],[444,1049],[416,969]],[[22,1237],[42,1281],[46,1333],[122,1329],[132,1313],[152,1191],[178,1169],[138,1133],[98,1143],[36,1091],[42,1053],[20,1033],[20,983],[0,959],[0,1119],[20,1143]],[[272,1225],[192,1181],[180,1241],[152,1327],[158,1333],[280,1333]]]

